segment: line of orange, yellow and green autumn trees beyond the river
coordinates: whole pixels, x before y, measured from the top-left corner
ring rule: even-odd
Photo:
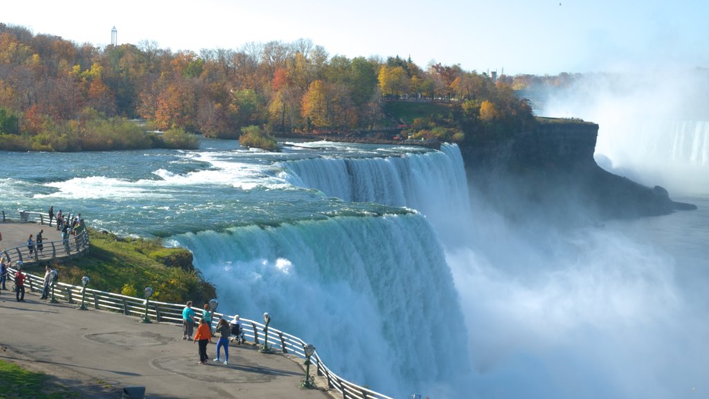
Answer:
[[[447,105],[401,121],[388,112],[392,101]],[[147,129],[130,119],[145,119]],[[0,23],[5,149],[179,147],[189,146],[187,133],[239,138],[256,128],[298,134],[401,125],[413,135],[462,141],[532,123],[529,103],[515,96],[509,78],[459,65],[423,69],[398,56],[330,56],[308,39],[199,54],[149,40],[99,48]],[[145,130],[171,134],[145,138]]]

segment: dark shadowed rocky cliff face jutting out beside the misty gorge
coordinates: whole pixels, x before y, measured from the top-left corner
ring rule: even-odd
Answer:
[[[533,131],[461,146],[469,184],[515,219],[598,221],[693,207],[601,169],[593,160],[597,135],[597,124],[540,119]]]

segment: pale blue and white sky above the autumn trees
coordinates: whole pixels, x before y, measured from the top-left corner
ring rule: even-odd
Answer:
[[[97,6],[97,4],[99,6]],[[11,1],[0,22],[104,47],[238,50],[298,38],[330,56],[399,55],[498,74],[709,67],[709,1]]]

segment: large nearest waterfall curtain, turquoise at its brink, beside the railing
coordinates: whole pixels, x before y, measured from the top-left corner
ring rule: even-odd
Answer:
[[[333,217],[174,236],[216,283],[220,310],[270,312],[351,381],[397,397],[469,370],[445,256],[420,214]]]

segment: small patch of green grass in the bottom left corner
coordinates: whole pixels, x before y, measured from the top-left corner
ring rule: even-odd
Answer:
[[[0,360],[0,398],[61,399],[81,398],[57,383],[48,382],[43,373],[28,371],[16,364]]]

